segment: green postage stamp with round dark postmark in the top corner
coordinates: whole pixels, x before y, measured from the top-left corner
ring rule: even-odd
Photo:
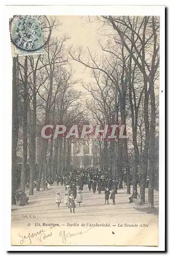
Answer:
[[[10,20],[10,35],[14,56],[43,53],[45,42],[51,34],[51,31],[49,31],[47,40],[45,40],[43,28],[46,26],[44,24],[39,16],[14,16]]]

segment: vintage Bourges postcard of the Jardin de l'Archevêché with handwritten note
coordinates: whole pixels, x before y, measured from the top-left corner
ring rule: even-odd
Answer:
[[[102,9],[9,18],[13,246],[159,246],[164,7]]]

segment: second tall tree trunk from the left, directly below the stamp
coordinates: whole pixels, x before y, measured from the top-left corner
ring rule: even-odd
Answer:
[[[25,57],[25,84],[24,84],[24,111],[23,111],[23,157],[22,157],[22,168],[21,168],[21,179],[20,187],[21,191],[25,192],[26,184],[26,168],[27,168],[27,120],[28,120],[28,65],[27,65],[27,56]]]

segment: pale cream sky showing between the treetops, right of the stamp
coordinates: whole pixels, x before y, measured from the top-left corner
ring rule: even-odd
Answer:
[[[95,17],[90,18],[94,19]],[[90,52],[96,51],[99,56],[103,54],[98,44],[98,40],[104,39],[99,34],[102,24],[99,22],[89,23],[88,16],[57,16],[57,19],[62,25],[59,26],[58,31],[53,32],[53,36],[62,37],[64,34],[70,36],[71,38],[66,43],[67,47],[71,45],[75,48],[82,46],[84,50],[87,50],[88,46]],[[90,78],[90,69],[84,71],[85,67],[81,63],[71,61],[71,66],[76,71],[74,75],[76,79],[83,79],[86,83],[94,81]],[[87,92],[81,85],[80,87],[77,86],[77,89]]]

